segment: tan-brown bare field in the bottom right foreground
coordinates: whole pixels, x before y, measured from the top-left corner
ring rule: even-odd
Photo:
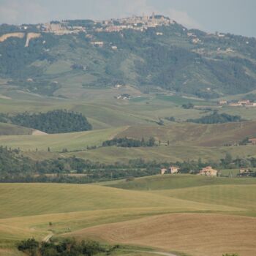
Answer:
[[[256,219],[214,214],[169,214],[79,230],[70,236],[154,246],[194,256],[238,252],[254,256]]]

